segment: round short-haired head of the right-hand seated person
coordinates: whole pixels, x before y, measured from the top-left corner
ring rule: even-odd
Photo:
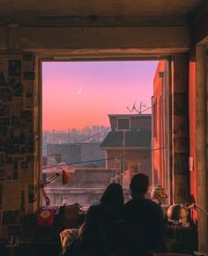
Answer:
[[[149,188],[149,177],[144,173],[135,174],[130,180],[130,194],[132,199],[145,197]]]

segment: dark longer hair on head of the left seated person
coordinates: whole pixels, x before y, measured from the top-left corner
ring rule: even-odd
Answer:
[[[121,184],[111,183],[103,192],[100,202],[103,204],[123,205],[124,196]]]

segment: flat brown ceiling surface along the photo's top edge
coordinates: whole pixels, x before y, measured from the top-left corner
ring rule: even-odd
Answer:
[[[203,0],[1,0],[0,19],[28,16],[185,15]]]

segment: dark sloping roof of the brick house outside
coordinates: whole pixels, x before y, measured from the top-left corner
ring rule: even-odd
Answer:
[[[123,139],[123,132],[109,132],[100,147],[123,147],[124,140],[125,147],[151,147],[151,129],[125,132],[125,139]]]

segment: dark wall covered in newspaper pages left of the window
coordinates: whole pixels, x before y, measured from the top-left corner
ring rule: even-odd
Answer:
[[[37,207],[34,85],[33,55],[0,56],[0,237]]]

